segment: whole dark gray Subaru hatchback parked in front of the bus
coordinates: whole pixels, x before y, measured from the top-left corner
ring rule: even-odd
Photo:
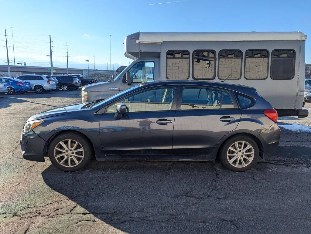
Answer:
[[[215,160],[245,171],[276,153],[277,112],[256,90],[202,81],[148,81],[92,103],[30,117],[28,160],[63,171],[97,160]]]

